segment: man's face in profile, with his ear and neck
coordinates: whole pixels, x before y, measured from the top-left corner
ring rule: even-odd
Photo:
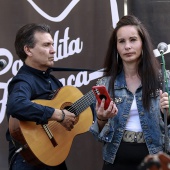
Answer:
[[[35,46],[29,48],[25,63],[38,70],[47,70],[54,65],[53,39],[49,33],[36,32],[34,34]]]

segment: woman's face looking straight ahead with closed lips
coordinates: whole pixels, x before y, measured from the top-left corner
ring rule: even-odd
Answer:
[[[117,31],[117,50],[124,64],[138,63],[142,53],[142,40],[135,26],[123,26]]]

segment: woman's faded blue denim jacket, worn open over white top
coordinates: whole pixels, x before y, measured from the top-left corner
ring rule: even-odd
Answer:
[[[99,85],[105,85],[106,88],[108,88],[109,79],[110,77],[102,78],[99,82]],[[134,95],[128,90],[126,86],[123,71],[117,76],[114,89],[115,103],[118,108],[118,114],[114,118],[108,120],[101,132],[99,131],[97,120],[90,128],[90,132],[92,132],[95,138],[104,143],[103,159],[109,163],[113,163],[115,160],[116,152],[122,140],[134,98]],[[150,154],[163,151],[164,123],[159,106],[159,90],[156,92],[156,94],[156,99],[153,98],[152,94],[150,95],[151,105],[148,112],[144,110],[142,105],[142,86],[140,86],[135,93],[141,127]]]

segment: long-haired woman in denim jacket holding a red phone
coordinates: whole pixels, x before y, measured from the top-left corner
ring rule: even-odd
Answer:
[[[135,170],[148,154],[163,151],[160,108],[168,108],[168,94],[160,89],[160,64],[150,36],[135,16],[124,16],[111,36],[105,76],[113,101],[104,110],[96,103],[97,119],[90,131],[104,143],[103,170]],[[160,100],[161,98],[161,100]]]

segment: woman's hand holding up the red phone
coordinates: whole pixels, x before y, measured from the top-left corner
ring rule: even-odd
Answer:
[[[101,104],[99,105],[96,102],[96,112],[98,120],[107,121],[109,118],[112,118],[117,115],[118,109],[113,101],[110,102],[109,107],[104,110],[105,99],[102,99]]]

